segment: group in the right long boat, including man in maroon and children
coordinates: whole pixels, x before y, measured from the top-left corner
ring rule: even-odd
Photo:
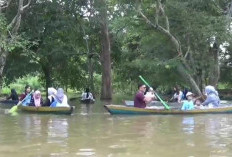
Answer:
[[[157,100],[155,91],[144,84],[138,85],[138,92],[134,97],[134,107],[146,108],[147,104],[154,100]],[[193,110],[193,109],[204,109],[204,108],[215,108],[220,105],[220,98],[215,87],[208,85],[205,87],[206,99],[201,101],[200,97],[194,97],[192,92],[182,92],[177,87],[174,88],[174,95],[171,98],[172,101],[183,103],[181,110]],[[186,98],[186,99],[185,99]]]

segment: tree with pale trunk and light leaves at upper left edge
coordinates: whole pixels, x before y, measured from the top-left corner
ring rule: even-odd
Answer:
[[[24,4],[26,3],[26,4]],[[1,25],[1,45],[0,45],[0,86],[2,86],[3,80],[3,70],[6,65],[6,59],[10,51],[12,51],[16,47],[22,47],[22,43],[20,41],[20,36],[18,35],[18,30],[22,20],[22,14],[25,12],[26,8],[29,7],[31,0],[18,0],[18,3],[13,4],[11,0],[4,0],[0,3],[0,21],[2,21],[3,25]],[[16,15],[10,19],[7,19],[8,15],[6,10],[11,9],[17,6]],[[5,18],[3,16],[5,13]],[[12,13],[12,12],[10,12]],[[10,21],[7,23],[7,21]]]

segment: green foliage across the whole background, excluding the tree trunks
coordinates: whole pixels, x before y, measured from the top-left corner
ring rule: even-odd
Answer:
[[[154,22],[155,1],[142,2],[142,11]],[[199,69],[205,69],[207,79],[213,64],[210,46],[225,41],[231,44],[232,41],[228,27],[231,21],[225,15],[229,1],[172,0],[162,3],[169,18],[170,32],[181,43],[183,53],[189,49],[192,55],[192,61],[187,58],[191,68],[188,72],[197,78]],[[141,82],[139,75],[160,91],[167,91],[176,84],[186,85],[176,70],[180,60],[174,45],[142,19],[137,4],[131,0],[107,1],[114,93],[135,92]],[[10,52],[4,69],[5,84],[14,87],[11,82],[30,74],[39,77],[41,82],[37,85],[31,82],[32,86],[45,87],[50,79],[55,87],[80,91],[89,85],[88,59],[91,57],[95,90],[100,93],[102,45],[98,11],[101,7],[85,0],[33,1],[23,16],[18,35],[8,42],[7,23],[17,12],[14,2],[7,14],[0,14],[0,47]],[[159,24],[164,26],[164,20],[160,17]],[[88,48],[85,39],[88,39]],[[226,54],[231,55],[230,48],[226,50]],[[226,54],[220,51],[221,56]],[[231,58],[225,62],[224,66],[228,66]],[[232,81],[229,72],[227,68],[222,70],[223,83]],[[19,84],[29,83],[21,81]],[[24,87],[15,88],[22,91]]]

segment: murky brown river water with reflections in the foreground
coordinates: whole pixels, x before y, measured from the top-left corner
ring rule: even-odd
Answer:
[[[0,106],[0,157],[232,156],[232,114],[112,116],[102,102],[75,106],[71,116]]]

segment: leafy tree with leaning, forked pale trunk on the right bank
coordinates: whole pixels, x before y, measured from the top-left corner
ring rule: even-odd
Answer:
[[[132,48],[130,50],[143,52],[141,57],[154,58],[154,64],[156,65],[163,64],[163,66],[167,65],[167,67],[175,68],[192,89],[201,95],[204,85],[217,84],[220,74],[218,55],[221,50],[219,48],[216,50],[211,45],[214,44],[219,47],[228,36],[226,27],[228,24],[223,12],[226,3],[221,3],[221,1],[211,2],[210,0],[157,0],[155,3],[153,1],[142,1],[134,5],[130,1],[122,1],[122,6],[134,7],[138,12],[138,14],[133,13],[133,11],[129,12],[132,14],[131,19],[135,20],[134,23],[138,23],[137,29],[135,28],[136,31],[134,31],[136,32],[134,37],[137,38],[138,44],[134,44],[135,48],[132,47],[134,50]],[[128,14],[128,11],[123,13]],[[127,27],[124,27],[125,32],[129,32]],[[143,34],[140,34],[142,31],[139,29],[141,28],[145,29]],[[150,31],[152,29],[154,33]],[[144,52],[141,41],[145,37],[147,38],[145,32],[156,33],[163,37],[153,41],[153,45],[163,41],[163,47],[172,49],[157,53],[155,51],[159,52],[159,50],[152,50],[151,48],[154,46],[151,45],[150,52],[153,55],[150,52]],[[124,33],[125,35],[127,34]],[[166,59],[163,56],[166,56]],[[209,56],[214,56],[214,59]]]

